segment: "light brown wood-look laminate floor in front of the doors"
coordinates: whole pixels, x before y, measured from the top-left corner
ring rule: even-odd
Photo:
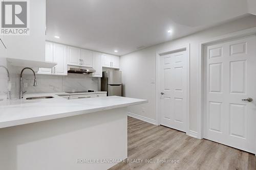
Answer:
[[[179,160],[179,163],[155,163],[157,160]],[[125,161],[110,170],[256,169],[253,154],[133,117],[128,117],[128,158]]]

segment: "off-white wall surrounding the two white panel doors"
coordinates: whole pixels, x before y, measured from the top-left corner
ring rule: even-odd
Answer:
[[[152,84],[152,79],[156,78],[156,52],[166,50],[168,48],[180,47],[190,43],[189,129],[197,132],[197,78],[199,70],[198,59],[200,41],[252,27],[256,27],[256,16],[254,15],[246,16],[190,36],[154,45],[152,47],[144,48],[143,50],[121,56],[120,70],[122,71],[123,77],[124,96],[148,100],[147,104],[129,107],[129,112],[154,120],[156,119],[156,84]]]

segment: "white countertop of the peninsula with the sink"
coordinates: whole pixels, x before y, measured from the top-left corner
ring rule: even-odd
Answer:
[[[67,100],[57,94],[63,93],[26,94],[24,99],[0,101],[0,128],[147,103],[120,96]],[[32,96],[54,98],[26,100]]]

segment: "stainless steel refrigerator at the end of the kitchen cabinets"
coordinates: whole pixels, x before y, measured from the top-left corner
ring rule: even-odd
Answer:
[[[107,91],[108,96],[122,96],[122,71],[103,71],[101,78],[101,91]]]

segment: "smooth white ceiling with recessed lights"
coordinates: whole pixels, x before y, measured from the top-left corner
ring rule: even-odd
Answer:
[[[246,0],[48,0],[47,40],[124,55],[247,12]]]

